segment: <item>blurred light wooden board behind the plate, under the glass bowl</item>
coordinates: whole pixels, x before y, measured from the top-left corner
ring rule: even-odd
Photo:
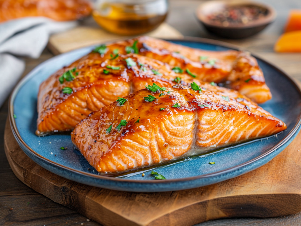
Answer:
[[[154,38],[183,38],[183,35],[167,23],[162,23],[157,29],[145,35]],[[66,53],[81,47],[118,39],[132,38],[130,36],[115,35],[101,28],[76,27],[66,32],[51,35],[48,48],[55,55]]]

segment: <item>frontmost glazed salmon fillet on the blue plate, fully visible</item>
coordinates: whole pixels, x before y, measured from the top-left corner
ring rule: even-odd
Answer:
[[[287,128],[246,96],[208,83],[142,89],[125,99],[91,113],[71,133],[100,173],[173,161]]]

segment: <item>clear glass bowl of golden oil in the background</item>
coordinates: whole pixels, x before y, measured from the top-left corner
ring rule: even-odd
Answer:
[[[109,32],[138,35],[157,28],[167,12],[167,0],[99,0],[95,3],[93,18]]]

